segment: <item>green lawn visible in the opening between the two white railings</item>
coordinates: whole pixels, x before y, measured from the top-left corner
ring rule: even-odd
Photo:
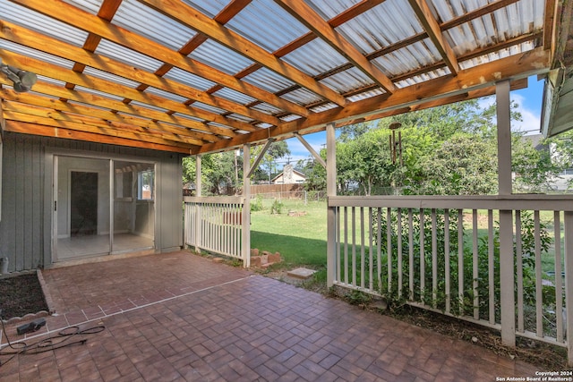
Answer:
[[[326,266],[326,202],[284,199],[281,213],[271,214],[272,202],[263,200],[263,209],[251,214],[251,248],[280,252],[286,267]]]

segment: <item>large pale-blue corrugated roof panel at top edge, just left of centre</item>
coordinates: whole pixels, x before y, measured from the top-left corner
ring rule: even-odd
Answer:
[[[253,0],[226,26],[269,52],[286,46],[309,31],[273,0]]]

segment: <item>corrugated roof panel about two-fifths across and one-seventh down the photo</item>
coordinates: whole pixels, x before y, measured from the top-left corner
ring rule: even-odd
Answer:
[[[203,64],[208,64],[227,74],[236,74],[253,64],[252,61],[245,58],[244,55],[239,55],[211,39],[203,42],[199,47],[193,50],[189,56],[192,59],[200,61]]]

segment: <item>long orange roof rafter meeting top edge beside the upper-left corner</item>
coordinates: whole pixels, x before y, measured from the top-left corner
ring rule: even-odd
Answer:
[[[196,60],[179,54],[149,38],[144,38],[129,30],[124,30],[111,22],[98,18],[91,13],[64,3],[61,0],[50,2],[42,0],[13,0],[14,3],[21,4],[38,13],[43,13],[58,21],[62,21],[80,30],[85,30],[100,38],[106,38],[115,44],[133,49],[142,55],[148,55],[166,64],[191,72],[209,81],[217,82],[227,88],[234,89],[253,98],[258,98],[269,105],[277,106],[295,115],[306,116],[310,112],[303,106],[296,105],[284,98],[279,98],[269,91],[258,88],[248,82],[237,80],[235,77],[225,72],[211,68],[207,64],[202,64]]]

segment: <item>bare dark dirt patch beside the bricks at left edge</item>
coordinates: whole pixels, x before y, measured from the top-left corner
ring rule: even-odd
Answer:
[[[4,320],[48,310],[36,273],[0,278],[0,296]]]

